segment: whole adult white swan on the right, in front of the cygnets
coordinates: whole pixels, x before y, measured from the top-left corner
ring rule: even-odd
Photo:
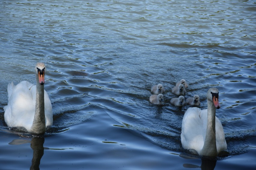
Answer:
[[[218,156],[227,149],[227,143],[220,120],[215,116],[219,91],[210,88],[207,92],[207,109],[188,108],[181,127],[181,144],[185,149],[203,156]],[[195,152],[196,151],[196,152]]]

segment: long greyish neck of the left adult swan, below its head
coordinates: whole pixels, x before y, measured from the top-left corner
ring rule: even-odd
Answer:
[[[44,85],[41,85],[36,76],[36,102],[35,102],[35,116],[31,131],[36,134],[45,132],[45,115],[44,115]]]

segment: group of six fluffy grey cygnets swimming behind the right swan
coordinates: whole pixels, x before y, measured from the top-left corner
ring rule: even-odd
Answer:
[[[189,97],[185,100],[184,96],[186,94],[186,89],[188,87],[188,84],[186,80],[181,79],[181,81],[177,82],[175,87],[172,88],[172,93],[178,95],[179,97],[174,97],[171,99],[170,103],[172,105],[181,107],[185,104],[187,105],[200,105],[199,96],[196,94],[194,97]],[[163,93],[165,92],[165,89],[162,84],[154,85],[151,88],[151,93],[153,93],[149,97],[149,101],[153,104],[160,104],[163,105]]]

